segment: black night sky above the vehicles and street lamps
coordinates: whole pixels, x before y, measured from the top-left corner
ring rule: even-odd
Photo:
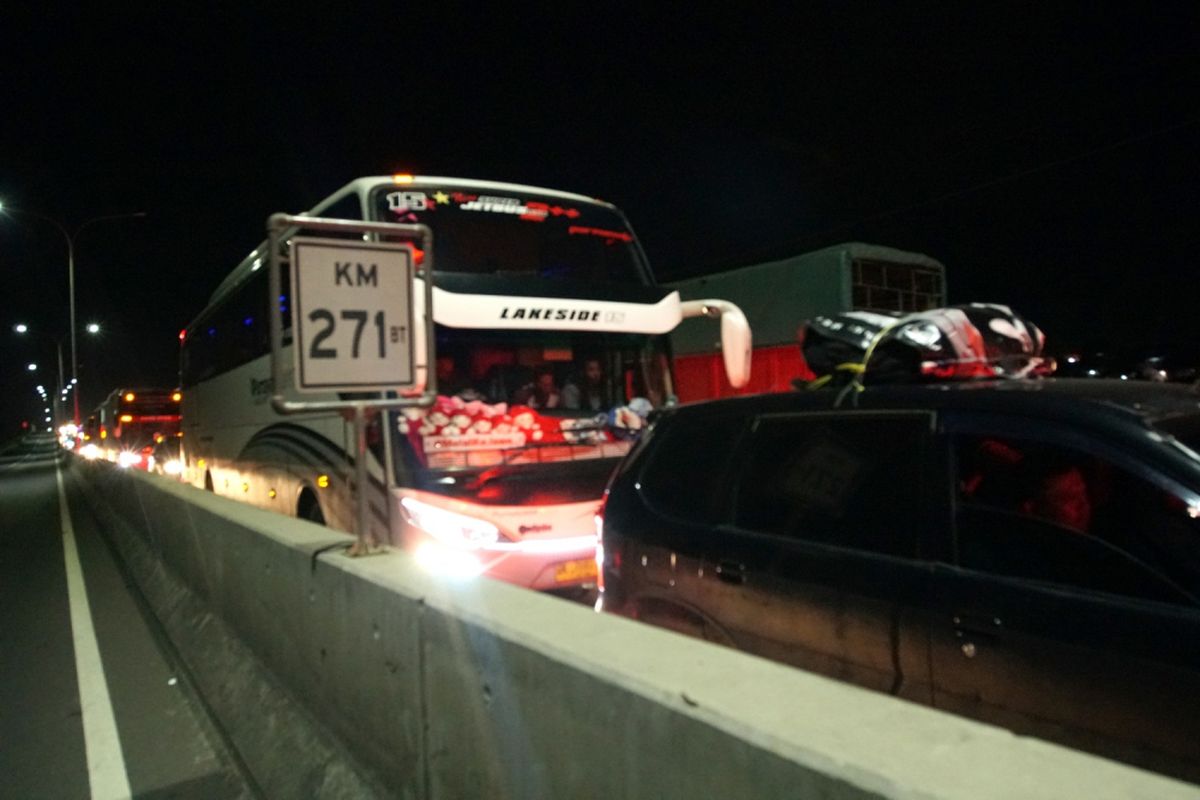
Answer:
[[[76,239],[85,409],[175,384],[268,215],[394,172],[611,200],[660,279],[865,241],[1051,347],[1200,344],[1200,6],[798,5],[10,8],[0,201],[148,215]],[[68,342],[62,233],[0,217],[0,277],[6,438]]]

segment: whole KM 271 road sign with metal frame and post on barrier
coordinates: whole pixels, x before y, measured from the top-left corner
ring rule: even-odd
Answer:
[[[281,414],[353,411],[358,541],[352,555],[380,552],[371,533],[367,410],[428,407],[437,398],[433,338],[433,233],[427,225],[275,213],[266,222],[271,254],[271,404]],[[299,235],[349,233],[354,239]],[[364,241],[362,234],[402,241]],[[416,269],[413,242],[424,263]],[[286,246],[286,249],[284,249]],[[288,261],[288,287],[283,265]],[[424,285],[424,296],[415,295]],[[418,303],[418,300],[421,302]],[[416,307],[420,306],[420,313]],[[290,337],[284,341],[286,313]],[[415,327],[420,325],[420,329]],[[424,380],[418,348],[424,343]],[[288,399],[284,345],[292,345],[294,389],[337,399]],[[390,476],[384,481],[390,483]],[[391,504],[385,509],[391,513]]]

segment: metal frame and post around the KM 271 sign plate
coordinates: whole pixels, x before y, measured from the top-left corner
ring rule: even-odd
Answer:
[[[425,309],[424,309],[424,330],[425,330],[425,390],[420,395],[409,397],[382,397],[374,399],[344,399],[344,401],[289,401],[284,397],[283,386],[283,309],[280,305],[280,296],[283,288],[283,278],[281,270],[283,269],[283,261],[289,261],[290,267],[290,251],[287,255],[281,252],[280,240],[283,233],[293,228],[304,228],[307,230],[325,230],[325,231],[338,231],[338,233],[350,233],[350,234],[394,234],[400,236],[406,236],[409,239],[415,239],[420,241],[420,247],[425,253],[424,264],[419,270],[416,270],[416,277],[421,279],[425,285]],[[367,493],[366,487],[368,486],[367,479],[367,425],[366,425],[366,413],[367,409],[386,410],[395,408],[413,408],[424,407],[427,408],[433,404],[438,396],[437,386],[437,369],[434,365],[437,363],[436,342],[433,337],[433,231],[428,225],[424,224],[401,224],[396,222],[370,222],[365,219],[332,219],[325,217],[307,217],[302,215],[288,215],[288,213],[272,213],[266,219],[266,240],[268,249],[270,252],[270,295],[268,296],[268,307],[271,309],[271,405],[280,414],[302,414],[306,411],[354,411],[354,438],[356,443],[355,453],[355,492],[358,500],[358,518],[355,521],[355,534],[358,541],[354,547],[350,548],[352,555],[366,555],[368,553],[380,552],[379,542],[374,541],[374,536],[371,534],[368,525],[368,510],[367,510]],[[415,264],[413,265],[415,269]],[[295,288],[292,288],[295,291]],[[409,302],[413,302],[415,296],[409,295]],[[289,309],[295,308],[295,303],[288,303]],[[290,313],[290,311],[289,311]],[[414,315],[414,327],[421,324],[415,320]],[[412,331],[415,336],[416,331]],[[415,353],[414,353],[415,356]],[[414,372],[416,369],[415,359],[413,363]],[[374,392],[371,392],[374,393]],[[390,461],[390,457],[388,458]],[[385,464],[385,486],[390,487],[392,485],[392,475],[390,470],[386,469]],[[385,504],[385,510],[388,516],[391,516],[391,504]],[[390,524],[390,519],[389,519]]]

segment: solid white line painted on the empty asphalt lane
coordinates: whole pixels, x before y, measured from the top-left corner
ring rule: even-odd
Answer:
[[[59,512],[62,518],[62,553],[67,567],[67,595],[71,600],[71,632],[74,637],[76,674],[79,679],[79,710],[83,717],[83,739],[88,750],[88,781],[92,800],[127,800],[132,796],[130,778],[125,772],[125,754],[116,733],[113,703],[108,699],[104,664],[100,660],[100,644],[91,624],[88,590],[83,582],[83,566],[76,549],[74,528],[67,511],[67,494],[62,487],[62,470],[54,468],[59,480]]]

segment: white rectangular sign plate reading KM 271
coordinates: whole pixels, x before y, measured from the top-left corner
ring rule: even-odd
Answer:
[[[298,236],[290,260],[296,389],[410,389],[412,246]]]

